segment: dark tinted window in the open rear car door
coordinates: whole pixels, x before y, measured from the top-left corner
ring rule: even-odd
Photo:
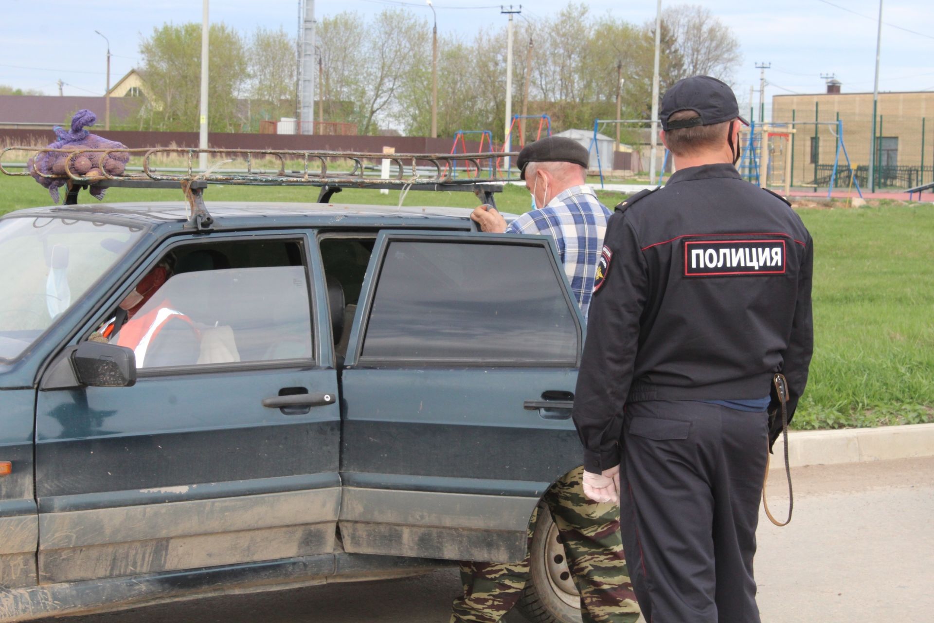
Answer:
[[[540,245],[390,242],[361,361],[573,365],[560,278]]]

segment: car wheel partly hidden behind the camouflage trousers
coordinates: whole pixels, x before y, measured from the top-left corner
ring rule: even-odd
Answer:
[[[531,579],[518,607],[532,623],[581,623],[580,593],[565,559],[558,526],[545,504],[531,539]]]

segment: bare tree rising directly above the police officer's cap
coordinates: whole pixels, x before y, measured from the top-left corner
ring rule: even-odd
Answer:
[[[684,62],[682,76],[713,76],[729,82],[743,60],[740,42],[729,28],[701,5],[668,7],[662,20]]]

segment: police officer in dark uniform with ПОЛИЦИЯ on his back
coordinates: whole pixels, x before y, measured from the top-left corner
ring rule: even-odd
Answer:
[[[573,409],[584,491],[621,497],[646,620],[757,623],[758,501],[781,429],[767,409],[776,373],[789,417],[807,382],[814,249],[734,168],[745,121],[726,84],[680,80],[660,117],[677,173],[616,206],[594,283]]]

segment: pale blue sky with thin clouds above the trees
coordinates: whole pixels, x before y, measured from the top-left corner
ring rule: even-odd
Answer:
[[[687,0],[690,2],[690,0]],[[609,14],[644,23],[655,19],[651,0],[585,0],[594,15]],[[518,4],[518,3],[517,3]],[[662,2],[668,7],[683,2]],[[879,3],[876,0],[694,0],[708,7],[740,41],[743,63],[733,78],[742,106],[749,88],[759,86],[756,64],[765,72],[767,117],[771,96],[787,92],[826,91],[822,74],[842,81],[843,92],[871,92]],[[531,19],[546,18],[567,0],[532,0],[522,4]],[[835,5],[835,6],[834,6]],[[0,84],[66,95],[106,91],[106,42],[109,39],[111,83],[139,64],[140,40],[164,21],[201,21],[198,0],[0,0]],[[341,11],[373,14],[401,7],[432,20],[423,2],[341,0],[316,2],[318,17]],[[438,30],[473,36],[504,24],[500,5],[490,0],[434,0]],[[83,21],[81,16],[87,16]],[[210,21],[224,21],[248,34],[257,26],[297,32],[297,0],[211,0]],[[884,2],[879,90],[934,91],[934,5],[931,0]],[[913,31],[913,32],[910,32]],[[754,96],[758,101],[758,92]]]

